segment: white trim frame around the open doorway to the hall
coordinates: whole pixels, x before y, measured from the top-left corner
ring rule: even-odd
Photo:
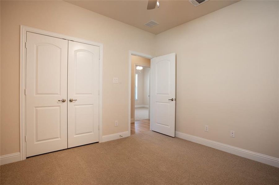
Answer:
[[[129,50],[129,68],[128,68],[128,98],[129,98],[129,105],[128,105],[128,131],[129,136],[131,136],[131,65],[132,65],[132,55],[135,56],[141,56],[148,59],[153,59],[155,56],[139,53],[137,51],[131,51]],[[151,130],[151,124],[150,124],[150,130]]]

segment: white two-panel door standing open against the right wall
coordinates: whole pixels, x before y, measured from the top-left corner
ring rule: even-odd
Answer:
[[[175,136],[175,53],[151,59],[150,123],[152,130]]]

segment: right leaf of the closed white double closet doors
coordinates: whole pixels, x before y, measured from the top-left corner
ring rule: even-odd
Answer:
[[[69,41],[68,148],[99,141],[99,47]]]

